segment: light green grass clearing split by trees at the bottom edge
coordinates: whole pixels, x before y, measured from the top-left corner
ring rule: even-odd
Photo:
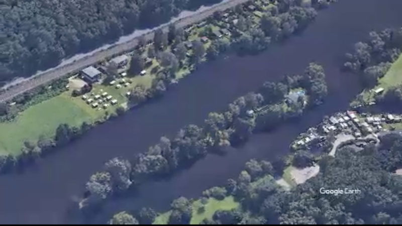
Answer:
[[[198,212],[199,207],[203,206],[200,200],[196,200],[192,203],[192,217],[190,224],[199,224],[205,218],[212,219],[212,216],[217,210],[231,210],[237,208],[239,203],[236,202],[233,196],[228,196],[223,200],[217,200],[215,198],[209,198],[207,204],[205,204],[205,211]],[[171,211],[160,214],[156,217],[153,224],[167,224]]]

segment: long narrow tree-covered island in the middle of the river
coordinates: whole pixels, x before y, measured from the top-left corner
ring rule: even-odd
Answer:
[[[300,95],[290,98],[294,93]],[[253,132],[268,131],[298,118],[306,107],[320,104],[326,95],[324,69],[316,63],[309,64],[302,75],[265,82],[257,92],[230,103],[226,111],[211,112],[203,127],[185,126],[172,140],[161,137],[158,144],[132,160],[117,157],[108,161],[104,171],[93,174],[86,183],[87,193],[80,208],[90,210],[113,194],[172,174],[208,152],[224,152],[226,146],[244,143]]]

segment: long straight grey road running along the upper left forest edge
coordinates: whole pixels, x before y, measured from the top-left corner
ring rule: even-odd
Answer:
[[[176,27],[185,27],[187,25],[196,23],[198,21],[202,21],[203,19],[211,16],[215,11],[224,11],[226,9],[232,8],[238,4],[242,4],[247,1],[249,1],[249,0],[228,0],[221,4],[217,4],[213,7],[207,8],[205,11],[194,12],[194,14],[191,14],[185,18],[179,19],[178,21],[176,21],[174,23],[175,23]],[[144,34],[143,36],[147,40],[153,39],[153,35],[154,35],[153,32],[156,29],[157,28],[152,29],[150,32]],[[167,31],[168,25],[164,25],[162,27],[162,29],[164,31]],[[105,58],[112,57],[114,55],[130,51],[137,45],[138,37],[140,37],[140,35],[137,37],[134,37],[132,40],[130,40],[128,42],[114,45],[111,48],[106,49],[106,50],[100,50],[90,56],[84,57],[84,58],[74,61],[70,64],[66,64],[64,66],[47,71],[43,74],[34,76],[28,80],[22,81],[21,83],[15,85],[15,86],[12,86],[12,87],[8,88],[5,92],[1,93],[0,94],[0,102],[10,100],[13,97],[15,97],[21,93],[29,91],[37,86],[46,84],[52,80],[63,77],[64,75],[66,75],[68,73],[72,73],[72,72],[78,71],[82,68],[85,68],[89,65],[96,64],[97,62],[103,61]]]

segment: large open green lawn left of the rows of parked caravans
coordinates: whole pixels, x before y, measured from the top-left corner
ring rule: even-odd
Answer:
[[[13,122],[0,123],[0,154],[18,155],[24,141],[36,142],[41,135],[50,138],[62,123],[78,126],[91,119],[69,96],[58,95],[29,107]]]

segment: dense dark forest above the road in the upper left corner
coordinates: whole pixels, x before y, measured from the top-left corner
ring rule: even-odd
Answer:
[[[0,81],[222,0],[0,0]]]

